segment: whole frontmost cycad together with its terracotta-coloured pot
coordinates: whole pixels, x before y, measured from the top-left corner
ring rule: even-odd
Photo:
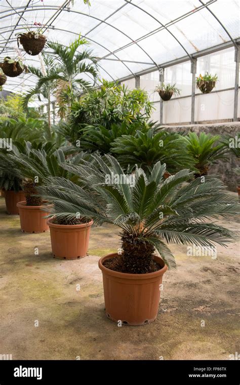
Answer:
[[[239,212],[239,204],[217,178],[186,183],[192,173],[182,170],[164,180],[166,166],[157,162],[149,177],[136,168],[135,183],[130,185],[115,158],[93,158],[98,167],[90,162],[63,166],[78,176],[81,188],[63,179],[47,178],[38,190],[54,203],[52,215],[56,218],[75,218],[78,212],[97,225],[119,226],[121,248],[99,260],[106,315],[126,325],[147,324],[157,316],[164,273],[168,267],[176,267],[164,241],[225,245],[232,233],[206,218]]]

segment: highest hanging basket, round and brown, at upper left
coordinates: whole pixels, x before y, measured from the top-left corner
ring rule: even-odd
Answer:
[[[36,56],[44,49],[47,38],[41,34],[27,32],[18,35],[17,40],[18,47],[20,42],[28,55]]]

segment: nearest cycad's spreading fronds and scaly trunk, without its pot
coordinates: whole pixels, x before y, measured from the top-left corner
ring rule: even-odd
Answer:
[[[47,178],[39,194],[53,202],[50,216],[75,218],[78,213],[95,224],[112,223],[121,228],[122,255],[117,271],[154,271],[157,251],[169,267],[174,256],[166,243],[213,246],[226,245],[232,233],[206,219],[239,212],[235,197],[227,194],[216,178],[193,179],[187,169],[164,180],[165,164],[157,162],[149,177],[136,167],[135,178],[124,174],[112,156],[93,156],[97,164],[63,165],[81,180],[77,185],[64,178]],[[166,242],[166,243],[165,243]]]

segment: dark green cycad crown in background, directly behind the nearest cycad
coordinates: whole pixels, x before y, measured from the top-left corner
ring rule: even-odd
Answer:
[[[166,163],[170,173],[183,168],[194,169],[194,160],[180,135],[164,130],[155,134],[152,128],[146,132],[137,131],[135,135],[123,135],[112,142],[111,152],[129,171],[137,164],[149,172],[158,161]]]

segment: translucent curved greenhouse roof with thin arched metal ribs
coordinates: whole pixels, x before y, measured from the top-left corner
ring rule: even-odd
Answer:
[[[79,33],[99,58],[100,78],[126,80],[136,75],[238,43],[237,0],[208,2],[156,0],[2,0],[0,53],[16,56],[16,33],[34,22],[49,40],[68,45]],[[39,58],[19,48],[25,64]],[[45,52],[48,49],[45,48]],[[24,92],[35,77],[24,73],[8,78],[6,90]]]

